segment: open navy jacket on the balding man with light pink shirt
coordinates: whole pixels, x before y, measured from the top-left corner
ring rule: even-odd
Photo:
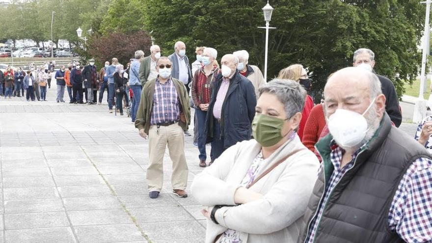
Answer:
[[[210,99],[209,110],[206,117],[207,141],[213,141],[213,107],[215,106],[217,92],[222,82],[222,75],[219,74],[213,82],[212,97]],[[223,138],[223,148],[249,140],[252,135],[252,120],[255,116],[256,96],[255,88],[252,82],[244,78],[236,70],[233,78],[230,80],[228,92],[222,105],[220,119],[220,134]]]

